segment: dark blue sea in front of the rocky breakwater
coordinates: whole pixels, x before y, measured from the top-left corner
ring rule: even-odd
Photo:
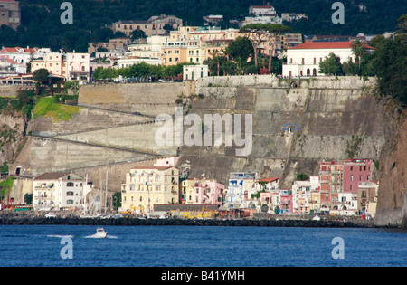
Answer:
[[[407,232],[401,230],[222,226],[104,229],[107,238],[98,239],[92,236],[95,226],[0,225],[0,266],[407,266]],[[335,238],[342,242],[333,242]],[[71,258],[63,254],[68,252]]]

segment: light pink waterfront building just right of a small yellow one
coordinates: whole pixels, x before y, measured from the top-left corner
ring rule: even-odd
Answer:
[[[215,180],[204,180],[195,184],[195,204],[217,204],[222,206],[224,185]]]

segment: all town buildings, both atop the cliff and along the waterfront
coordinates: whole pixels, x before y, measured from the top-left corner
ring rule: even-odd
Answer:
[[[9,14],[10,19],[7,22],[2,14],[0,24],[16,29],[21,17],[18,2],[0,1],[0,5],[3,5],[2,13]],[[223,21],[222,14],[205,16],[204,26],[187,25],[183,19],[171,14],[152,15],[147,21],[119,20],[106,24],[105,28],[120,36],[106,43],[89,43],[88,52],[52,51],[52,47],[3,46],[0,50],[1,96],[16,97],[21,90],[36,90],[38,86],[47,84],[53,87],[49,94],[53,95],[54,92],[61,92],[70,81],[77,82],[81,87],[99,83],[165,84],[166,81],[196,81],[212,75],[222,76],[220,63],[216,61],[220,56],[227,56],[231,52],[228,47],[240,38],[256,44],[255,54],[248,56],[247,62],[261,62],[263,74],[277,73],[271,70],[271,58],[282,61],[280,74],[276,74],[279,78],[336,75],[335,72],[321,69],[321,63],[327,61],[332,53],[338,62],[358,64],[360,70],[361,54],[355,53],[355,43],[366,54],[374,52],[370,43],[376,35],[362,31],[349,36],[282,31],[256,40],[259,33],[244,30],[244,26],[284,24],[308,19],[308,16],[296,11],[281,13],[283,11],[276,11],[270,4],[251,5],[248,11],[249,17],[245,17],[244,21],[231,20],[235,28],[228,29],[217,26]],[[384,33],[382,36],[393,39],[394,33]],[[103,75],[104,71],[124,72],[144,63],[161,68],[181,63],[184,66],[179,73],[172,75],[148,72],[144,75]],[[43,70],[47,71],[46,84],[35,79],[35,74]],[[243,74],[243,70],[239,72]],[[229,75],[226,68],[222,69],[222,74]],[[78,92],[69,90],[68,95],[78,95]],[[78,104],[77,98],[75,100]],[[282,136],[290,136],[290,129]],[[93,185],[87,177],[76,175],[74,171],[29,177],[32,185],[27,189],[31,191],[28,190],[25,196],[31,196],[28,199],[31,203],[5,195],[1,197],[0,209],[185,218],[318,214],[370,219],[376,213],[380,183],[374,179],[377,162],[370,157],[335,161],[320,159],[318,176],[298,172],[290,187],[282,187],[280,177],[260,176],[246,169],[231,172],[228,183],[204,174],[191,177],[190,166],[179,166],[178,159],[177,156],[163,156],[157,158],[153,166],[129,168],[126,181],[118,185],[121,191],[115,194],[108,194],[107,182],[105,188]],[[2,176],[24,176],[20,168],[10,169]],[[109,174],[106,173],[108,179]]]

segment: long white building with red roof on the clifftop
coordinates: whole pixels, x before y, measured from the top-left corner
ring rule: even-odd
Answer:
[[[282,75],[288,77],[325,75],[319,72],[319,63],[331,52],[340,58],[340,62],[355,62],[352,43],[352,41],[308,42],[291,47],[287,50],[287,64],[283,64]],[[374,49],[368,45],[364,47],[368,52]]]

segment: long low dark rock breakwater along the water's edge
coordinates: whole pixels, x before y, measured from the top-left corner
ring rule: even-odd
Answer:
[[[157,219],[157,218],[44,218],[44,217],[0,217],[0,225],[123,225],[123,226],[266,226],[266,227],[320,227],[320,228],[396,228],[391,226],[377,226],[370,221],[332,221],[332,220],[300,220],[300,219]]]

